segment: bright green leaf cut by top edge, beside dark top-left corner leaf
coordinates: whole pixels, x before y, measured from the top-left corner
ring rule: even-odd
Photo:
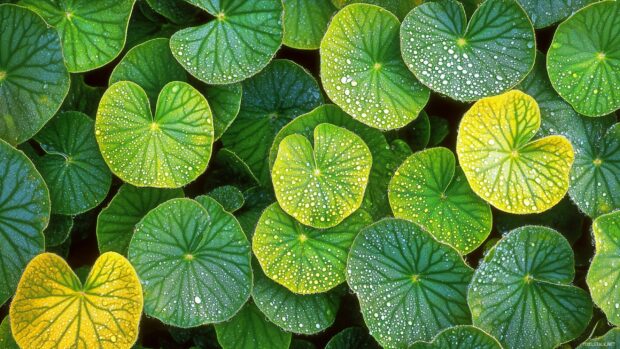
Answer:
[[[72,73],[99,68],[116,58],[127,37],[135,0],[21,0],[55,27]]]

